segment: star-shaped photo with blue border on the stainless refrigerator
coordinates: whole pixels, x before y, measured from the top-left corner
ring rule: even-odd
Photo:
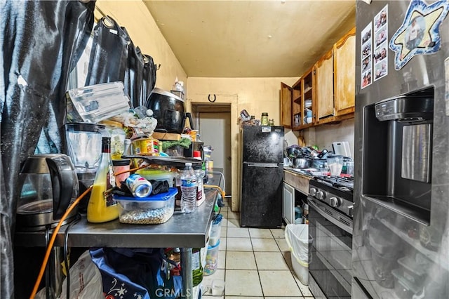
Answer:
[[[391,37],[389,48],[395,52],[394,68],[401,69],[415,55],[431,54],[439,50],[439,27],[448,15],[449,1],[427,5],[422,0],[412,0],[401,27]]]

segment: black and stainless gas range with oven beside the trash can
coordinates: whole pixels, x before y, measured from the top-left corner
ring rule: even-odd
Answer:
[[[315,298],[351,298],[352,178],[309,181],[309,288]]]

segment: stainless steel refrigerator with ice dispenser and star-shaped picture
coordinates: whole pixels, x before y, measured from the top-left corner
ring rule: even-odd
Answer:
[[[449,298],[449,1],[366,2],[352,298]]]

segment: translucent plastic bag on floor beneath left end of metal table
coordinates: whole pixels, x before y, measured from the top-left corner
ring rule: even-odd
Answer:
[[[62,282],[62,291],[58,298],[67,298],[67,278]],[[46,298],[46,288],[42,288],[34,297]],[[98,267],[92,262],[91,253],[84,251],[76,263],[70,268],[70,297],[104,299],[101,274]]]

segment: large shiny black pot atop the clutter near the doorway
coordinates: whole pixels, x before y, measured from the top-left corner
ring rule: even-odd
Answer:
[[[187,118],[193,129],[192,115],[184,112],[184,100],[173,93],[154,88],[145,106],[153,110],[153,117],[157,119],[154,131],[182,133]]]

